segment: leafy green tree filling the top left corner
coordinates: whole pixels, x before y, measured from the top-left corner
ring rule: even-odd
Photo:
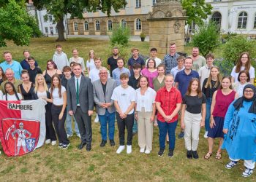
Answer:
[[[6,47],[7,40],[17,45],[29,45],[29,40],[39,29],[28,12],[24,1],[0,1],[0,47]]]

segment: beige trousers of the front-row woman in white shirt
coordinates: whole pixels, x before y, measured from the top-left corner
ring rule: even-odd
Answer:
[[[138,111],[138,143],[140,149],[152,150],[153,122],[150,121],[152,112]]]

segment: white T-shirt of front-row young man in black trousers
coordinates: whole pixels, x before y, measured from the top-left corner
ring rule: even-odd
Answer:
[[[132,102],[135,102],[136,92],[130,86],[124,89],[123,87],[121,87],[121,85],[119,85],[113,90],[111,99],[117,101],[119,107],[121,108],[121,111],[124,113],[125,111],[127,111],[127,108],[129,108],[129,105],[131,105]],[[134,109],[132,108],[132,110],[129,111],[128,114],[132,114],[133,111]]]

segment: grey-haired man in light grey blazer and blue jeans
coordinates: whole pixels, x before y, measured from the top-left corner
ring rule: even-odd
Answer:
[[[103,147],[107,143],[107,125],[108,125],[108,138],[110,146],[115,146],[115,116],[116,108],[114,100],[111,100],[113,90],[116,88],[116,81],[108,78],[108,70],[105,67],[99,68],[99,79],[94,81],[94,103],[96,104],[96,111],[99,115],[100,132],[102,134]]]

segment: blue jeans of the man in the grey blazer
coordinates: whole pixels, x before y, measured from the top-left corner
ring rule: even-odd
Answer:
[[[100,132],[102,134],[102,141],[107,141],[107,124],[108,124],[108,138],[114,140],[115,135],[115,117],[116,112],[109,113],[106,109],[105,115],[99,115]]]

